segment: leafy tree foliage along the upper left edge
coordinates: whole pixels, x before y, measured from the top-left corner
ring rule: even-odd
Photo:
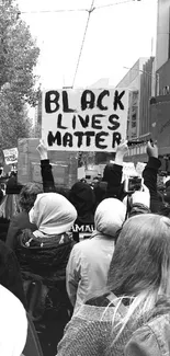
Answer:
[[[19,137],[27,137],[25,103],[35,104],[36,66],[39,49],[29,26],[20,19],[14,0],[0,0],[0,146],[16,146]]]

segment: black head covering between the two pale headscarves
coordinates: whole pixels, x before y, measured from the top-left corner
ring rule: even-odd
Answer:
[[[77,209],[78,219],[81,223],[93,222],[95,196],[89,184],[75,183],[70,190],[69,200]]]

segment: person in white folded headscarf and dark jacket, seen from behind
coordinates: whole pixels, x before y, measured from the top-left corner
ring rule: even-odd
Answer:
[[[39,324],[44,325],[39,338],[44,354],[49,356],[54,355],[69,320],[66,265],[73,244],[68,231],[76,218],[75,207],[60,194],[38,194],[30,210],[30,221],[37,230],[23,230],[16,238],[15,254],[25,282],[29,310],[32,308],[37,320],[37,330]],[[34,288],[37,295],[33,308],[29,296]]]

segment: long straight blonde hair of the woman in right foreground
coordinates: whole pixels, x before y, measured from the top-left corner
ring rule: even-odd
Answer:
[[[138,215],[128,219],[118,237],[109,271],[109,290],[118,297],[113,315],[117,341],[126,324],[155,308],[160,296],[170,295],[170,219]],[[120,305],[129,300],[127,312],[117,320]]]

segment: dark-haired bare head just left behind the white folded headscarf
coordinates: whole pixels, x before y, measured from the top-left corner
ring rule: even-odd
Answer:
[[[39,184],[27,183],[23,186],[19,197],[19,204],[22,210],[29,213],[34,205],[37,194],[43,193]]]

